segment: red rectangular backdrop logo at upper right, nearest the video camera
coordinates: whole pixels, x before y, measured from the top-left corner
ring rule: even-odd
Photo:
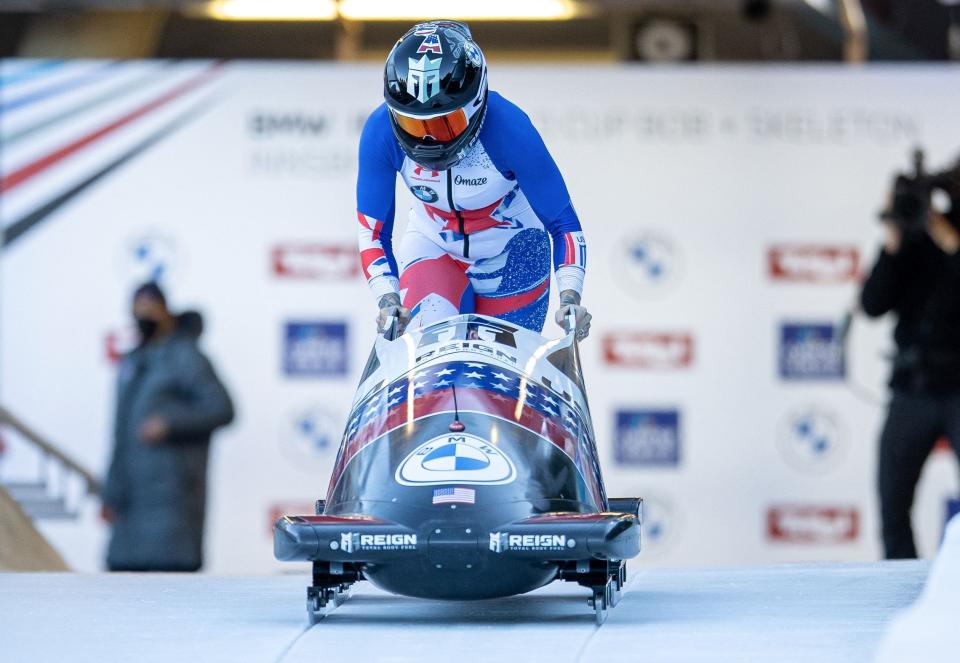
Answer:
[[[767,268],[773,281],[849,283],[860,274],[855,246],[782,244],[770,247]]]

